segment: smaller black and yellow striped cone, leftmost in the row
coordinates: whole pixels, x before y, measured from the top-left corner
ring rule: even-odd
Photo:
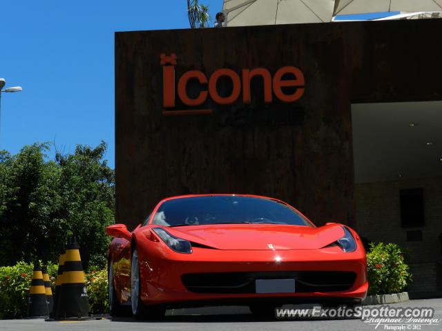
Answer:
[[[43,274],[41,274],[40,263],[37,261],[32,272],[32,281],[28,299],[28,317],[48,317],[49,309],[46,301],[46,290],[44,288]]]

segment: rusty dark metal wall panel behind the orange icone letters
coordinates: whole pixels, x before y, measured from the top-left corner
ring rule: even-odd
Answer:
[[[117,223],[135,226],[164,197],[245,193],[291,203],[320,225],[354,221],[349,64],[334,23],[115,34]],[[212,114],[162,115],[160,54],[177,55],[176,77],[295,66],[305,93],[263,102],[253,83]],[[224,88],[223,86],[220,87]],[[228,88],[227,88],[228,89]],[[184,108],[177,103],[175,110]]]

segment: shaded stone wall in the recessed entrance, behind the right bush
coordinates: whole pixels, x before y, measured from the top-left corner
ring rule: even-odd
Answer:
[[[399,191],[408,188],[423,188],[423,227],[401,226]],[[442,263],[442,178],[356,184],[355,201],[358,234],[410,248],[412,263]],[[421,230],[422,241],[407,241],[411,230]]]

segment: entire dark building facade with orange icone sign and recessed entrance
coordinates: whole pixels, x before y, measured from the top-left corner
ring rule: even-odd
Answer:
[[[432,279],[416,292],[442,290],[441,28],[117,32],[117,223],[172,195],[276,197],[316,225],[410,247]]]

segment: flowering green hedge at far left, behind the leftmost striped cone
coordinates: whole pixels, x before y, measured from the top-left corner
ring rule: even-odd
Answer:
[[[47,267],[53,288],[58,267],[50,262]],[[0,267],[0,319],[26,317],[33,270],[33,263],[23,261],[12,267]]]

